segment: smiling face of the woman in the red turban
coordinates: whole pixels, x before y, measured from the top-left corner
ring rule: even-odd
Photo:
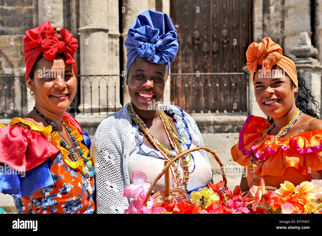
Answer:
[[[77,80],[72,64],[66,65],[66,58],[56,56],[54,61],[42,58],[26,84],[35,96],[37,106],[51,112],[65,111],[71,104]],[[44,71],[45,69],[45,71]]]

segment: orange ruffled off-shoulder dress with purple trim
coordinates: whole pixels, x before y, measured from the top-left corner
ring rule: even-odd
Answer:
[[[255,153],[254,164],[257,159],[262,160],[256,170],[254,185],[257,186],[260,185],[258,176],[264,179],[266,186],[279,188],[285,180],[295,186],[303,181],[310,181],[311,173],[322,170],[322,129],[279,138],[272,144],[270,142],[273,136],[266,134],[256,144],[268,127],[270,123],[266,119],[248,116],[239,133],[238,143],[231,149],[233,160],[246,167],[250,187],[254,179],[250,168],[251,153]]]

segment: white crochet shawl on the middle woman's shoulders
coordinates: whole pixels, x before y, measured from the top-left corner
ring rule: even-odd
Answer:
[[[97,213],[124,213],[129,199],[123,196],[123,189],[130,185],[128,175],[128,156],[133,140],[132,121],[128,104],[116,113],[106,117],[97,128],[90,147],[96,170],[96,207]],[[172,110],[177,107],[159,104],[159,109]],[[199,145],[204,142],[194,119],[184,112],[193,131],[198,136]],[[206,152],[199,150],[209,164]],[[209,164],[210,165],[210,164]]]

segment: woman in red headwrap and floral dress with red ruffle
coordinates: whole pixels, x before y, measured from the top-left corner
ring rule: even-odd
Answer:
[[[14,196],[18,213],[94,212],[90,139],[65,112],[76,93],[78,41],[60,33],[49,21],[26,31],[26,85],[35,107],[0,125],[0,192]]]

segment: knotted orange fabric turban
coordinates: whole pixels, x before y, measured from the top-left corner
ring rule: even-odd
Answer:
[[[247,52],[247,66],[251,72],[251,81],[254,85],[254,72],[257,70],[257,65],[262,65],[263,73],[267,74],[272,69],[272,66],[277,65],[282,68],[290,79],[298,87],[298,76],[295,63],[288,57],[282,54],[282,48],[273,42],[272,39],[266,37],[260,43],[252,43],[249,45]]]

